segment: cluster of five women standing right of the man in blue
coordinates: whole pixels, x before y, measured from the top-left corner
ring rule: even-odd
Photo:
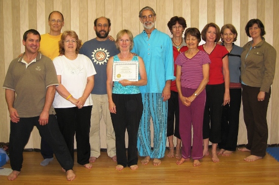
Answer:
[[[220,30],[216,24],[209,23],[200,33],[197,28],[186,29],[185,19],[175,16],[168,22],[168,27],[173,35],[176,75],[168,107],[168,156],[174,157],[173,135],[177,137],[175,156],[182,156],[176,162],[178,165],[192,157],[194,166],[199,166],[199,159],[209,155],[209,141],[213,162],[219,162],[218,154],[228,156],[235,151],[242,93],[248,144],[239,150],[251,152],[244,158],[246,161],[264,157],[268,138],[266,115],[275,74],[276,50],[262,37],[265,35],[263,23],[259,19],[248,21],[245,31],[252,40],[243,48],[234,44],[238,33],[232,24],[226,24]],[[218,43],[220,37],[222,42]],[[201,39],[205,43],[199,45]]]

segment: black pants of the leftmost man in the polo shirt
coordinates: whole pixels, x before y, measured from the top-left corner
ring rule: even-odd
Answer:
[[[59,131],[55,115],[49,115],[48,123],[40,125],[39,116],[20,117],[19,122],[10,122],[9,157],[12,170],[20,171],[23,162],[23,149],[28,143],[30,134],[36,126],[43,138],[52,147],[60,165],[67,171],[73,169],[74,162],[65,140]]]

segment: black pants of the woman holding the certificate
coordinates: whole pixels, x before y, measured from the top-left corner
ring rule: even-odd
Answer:
[[[138,163],[137,134],[142,116],[141,94],[113,94],[116,114],[111,113],[116,138],[117,164],[124,167]],[[125,131],[128,132],[128,157],[125,147]]]

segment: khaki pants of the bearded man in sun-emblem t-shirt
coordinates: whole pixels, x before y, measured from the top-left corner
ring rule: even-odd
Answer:
[[[107,139],[107,152],[110,157],[116,155],[115,148],[115,132],[113,128],[113,123],[111,119],[111,114],[109,110],[108,95],[96,95],[92,94],[93,108],[91,112],[91,127],[89,134],[90,141],[90,156],[99,157],[100,156],[100,120],[103,117],[106,124],[106,139]]]

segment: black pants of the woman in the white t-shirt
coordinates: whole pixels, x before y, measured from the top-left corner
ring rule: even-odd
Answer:
[[[74,160],[74,137],[77,141],[77,158],[81,165],[89,163],[90,144],[90,118],[92,106],[81,109],[55,108],[59,129],[67,143],[72,159]]]

